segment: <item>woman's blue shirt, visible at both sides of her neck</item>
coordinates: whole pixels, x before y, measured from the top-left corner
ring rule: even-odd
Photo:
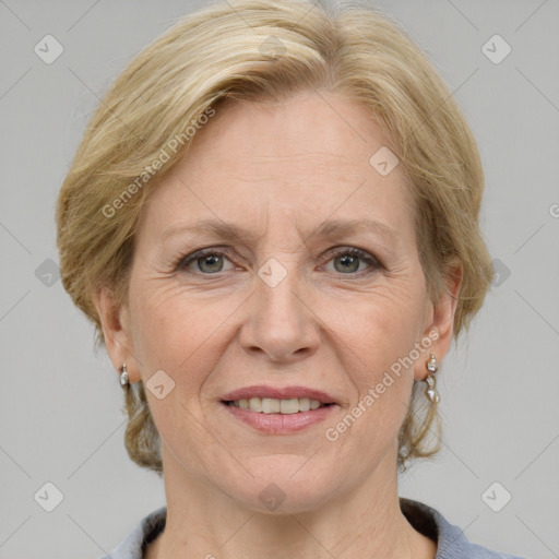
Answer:
[[[450,524],[439,511],[423,502],[401,497],[400,508],[415,530],[437,542],[436,559],[524,559],[469,543],[459,526]],[[109,556],[100,559],[143,559],[146,546],[165,528],[166,518],[166,507],[152,512]]]

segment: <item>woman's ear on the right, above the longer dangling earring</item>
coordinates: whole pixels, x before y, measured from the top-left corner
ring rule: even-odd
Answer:
[[[424,338],[431,340],[436,337],[436,340],[433,340],[430,348],[415,362],[414,378],[416,380],[424,380],[429,373],[426,368],[426,361],[429,359],[430,354],[433,354],[440,364],[450,349],[462,277],[462,264],[455,262],[447,280],[445,290],[436,302],[429,301],[428,304],[426,328],[423,336]]]

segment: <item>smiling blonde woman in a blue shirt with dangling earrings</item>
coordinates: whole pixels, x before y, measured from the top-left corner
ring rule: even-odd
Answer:
[[[367,8],[216,3],[140,53],[57,206],[165,481],[110,557],[513,557],[397,495],[491,278],[483,187],[447,86]]]

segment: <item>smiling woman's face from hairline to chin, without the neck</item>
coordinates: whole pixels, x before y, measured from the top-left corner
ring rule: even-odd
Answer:
[[[370,163],[388,139],[356,102],[301,93],[228,100],[194,140],[142,210],[129,299],[105,331],[115,367],[146,384],[166,481],[293,512],[394,476],[452,306],[428,298],[401,167],[385,148]],[[275,412],[224,403],[251,394]],[[330,405],[305,412],[305,394]]]

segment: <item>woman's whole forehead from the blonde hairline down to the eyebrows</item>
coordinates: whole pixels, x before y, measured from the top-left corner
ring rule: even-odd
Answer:
[[[383,217],[402,229],[412,222],[403,174],[396,165],[383,176],[370,163],[388,145],[353,99],[312,92],[283,102],[227,99],[156,188],[144,217],[158,233],[189,219],[249,216],[257,235],[271,219],[305,229],[329,216]]]

